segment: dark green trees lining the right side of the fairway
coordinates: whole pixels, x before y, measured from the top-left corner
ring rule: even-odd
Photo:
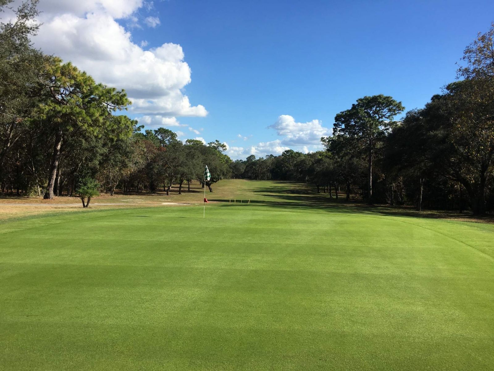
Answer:
[[[467,46],[458,81],[420,109],[365,96],[335,116],[326,150],[237,160],[235,178],[278,179],[331,188],[369,203],[494,210],[494,24]],[[338,197],[338,193],[334,193]]]

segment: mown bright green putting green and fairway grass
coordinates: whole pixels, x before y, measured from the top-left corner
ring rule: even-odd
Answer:
[[[0,370],[493,369],[493,225],[231,193],[3,222]]]

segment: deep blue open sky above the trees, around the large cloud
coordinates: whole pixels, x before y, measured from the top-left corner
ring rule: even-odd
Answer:
[[[43,1],[47,14],[55,14],[48,6],[53,0]],[[454,80],[464,47],[494,20],[494,1],[125,1],[128,11],[122,14],[109,5],[66,12],[79,22],[89,22],[92,13],[110,14],[143,51],[181,46],[190,83],[174,87],[192,108],[170,108],[160,117],[174,117],[164,122],[183,132],[182,138],[227,142],[237,148],[230,150],[235,158],[285,147],[317,149],[318,133],[330,130],[334,115],[364,95],[391,95],[407,110],[423,106]],[[45,21],[48,26],[52,19]],[[43,46],[42,35],[40,40],[98,74],[81,55]],[[168,52],[160,54],[162,62]],[[126,88],[127,80],[104,82]],[[153,75],[140,80],[145,90]],[[142,89],[129,89],[131,97],[145,99]],[[131,114],[157,112],[142,108]],[[302,133],[311,130],[312,137]]]

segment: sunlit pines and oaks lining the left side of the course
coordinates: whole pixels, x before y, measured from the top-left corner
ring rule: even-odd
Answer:
[[[146,130],[122,115],[124,91],[96,83],[61,59],[35,49],[36,0],[0,24],[0,191],[24,195],[79,195],[156,191],[229,177],[231,159],[218,140],[184,143],[165,128]],[[11,5],[0,0],[0,9]],[[204,185],[203,185],[204,186]],[[84,204],[84,198],[82,198]]]

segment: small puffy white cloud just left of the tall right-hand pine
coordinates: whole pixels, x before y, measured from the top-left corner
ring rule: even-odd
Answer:
[[[300,146],[308,144],[321,144],[321,137],[328,136],[330,131],[322,126],[320,120],[312,120],[301,123],[289,115],[281,115],[278,120],[270,125],[279,136],[285,137],[283,145]]]

